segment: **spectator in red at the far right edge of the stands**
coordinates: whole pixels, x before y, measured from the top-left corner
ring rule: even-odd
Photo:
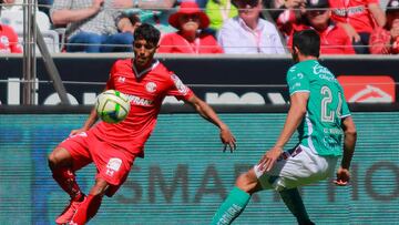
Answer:
[[[386,10],[387,24],[376,28],[370,35],[371,54],[399,53],[399,0],[390,0]]]

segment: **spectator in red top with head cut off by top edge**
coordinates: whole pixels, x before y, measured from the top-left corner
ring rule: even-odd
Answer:
[[[342,27],[354,41],[355,51],[369,53],[370,33],[386,23],[379,0],[329,0],[332,20]]]

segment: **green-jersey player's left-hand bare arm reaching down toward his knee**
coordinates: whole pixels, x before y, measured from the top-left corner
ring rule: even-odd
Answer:
[[[285,144],[293,136],[306,114],[308,99],[308,92],[297,92],[290,96],[290,106],[283,131],[275,146],[268,150],[259,162],[259,167],[262,171],[270,171],[278,156],[283,153]]]

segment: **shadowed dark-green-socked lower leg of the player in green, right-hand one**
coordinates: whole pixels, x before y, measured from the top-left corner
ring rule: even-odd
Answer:
[[[299,225],[313,225],[309,215],[306,212],[304,202],[300,197],[298,188],[283,190],[279,192],[285,205],[296,217]]]

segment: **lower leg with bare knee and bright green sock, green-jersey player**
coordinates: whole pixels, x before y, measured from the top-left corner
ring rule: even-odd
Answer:
[[[250,195],[262,190],[260,183],[254,168],[238,176],[236,186],[231,191],[227,198],[216,211],[212,225],[231,224],[245,209],[250,200]]]

